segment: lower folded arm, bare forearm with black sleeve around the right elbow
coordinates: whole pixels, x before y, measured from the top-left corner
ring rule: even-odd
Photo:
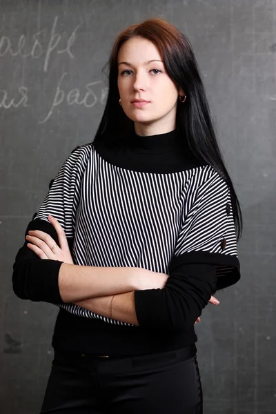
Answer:
[[[195,324],[208,304],[215,286],[216,268],[212,264],[179,266],[162,289],[135,290],[115,295],[112,317],[150,330],[186,331]],[[110,317],[111,299],[112,296],[94,297],[76,304]]]

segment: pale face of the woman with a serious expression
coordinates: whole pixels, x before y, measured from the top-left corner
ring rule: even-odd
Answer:
[[[118,88],[124,112],[136,125],[175,128],[179,92],[154,43],[135,37],[121,46]]]

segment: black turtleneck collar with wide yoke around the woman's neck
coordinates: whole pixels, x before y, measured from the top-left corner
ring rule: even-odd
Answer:
[[[138,135],[132,128],[124,141],[93,144],[98,155],[110,164],[139,172],[180,172],[204,165],[191,154],[186,137],[177,128],[157,135]]]

